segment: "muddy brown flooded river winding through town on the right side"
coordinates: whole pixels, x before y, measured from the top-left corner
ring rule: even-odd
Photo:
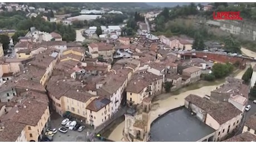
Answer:
[[[250,50],[242,48],[242,52],[248,56],[255,56],[256,53]],[[251,63],[254,65],[255,63]],[[248,67],[248,66],[247,66]],[[237,74],[235,74],[235,78],[241,79],[244,72],[247,69],[240,70]],[[188,86],[187,88],[183,88],[178,92],[174,92],[173,94],[161,94],[156,96],[156,101],[152,102],[152,110],[150,115],[150,122],[154,121],[159,115],[164,114],[165,112],[175,109],[176,107],[184,105],[184,98],[189,94],[196,94],[199,96],[210,95],[210,91],[216,89],[216,87],[225,83],[225,80],[219,80],[215,82],[203,82],[198,85]],[[191,87],[191,88],[190,88]],[[114,141],[121,141],[122,139],[122,131],[124,129],[125,122],[123,121],[119,124],[114,131],[111,132],[109,138]]]

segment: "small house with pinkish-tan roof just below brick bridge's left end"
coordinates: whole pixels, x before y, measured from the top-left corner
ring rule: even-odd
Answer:
[[[189,68],[183,69],[182,75],[190,77],[190,83],[200,80],[201,69],[191,66]]]

